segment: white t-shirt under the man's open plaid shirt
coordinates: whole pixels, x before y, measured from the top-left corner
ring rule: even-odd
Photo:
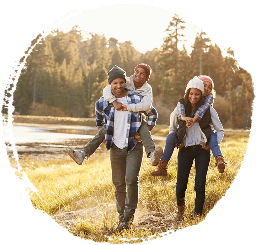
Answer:
[[[127,105],[127,97],[116,98],[117,102]],[[128,121],[128,111],[115,110],[114,111],[114,134],[113,142],[114,144],[123,149],[126,147],[126,132],[127,132],[127,121]]]

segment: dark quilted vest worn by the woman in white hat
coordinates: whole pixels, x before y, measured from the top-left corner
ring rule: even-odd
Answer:
[[[180,103],[181,104],[185,104],[184,103],[184,98],[180,99]],[[194,114],[196,113],[197,109],[201,106],[202,104],[197,105],[197,107],[193,110],[192,112],[192,116],[189,115],[189,111],[188,108],[185,107],[185,113],[186,116],[190,116],[190,117],[194,117]],[[212,131],[212,128],[210,126],[210,123],[212,122],[212,118],[210,115],[210,108],[204,113],[203,118],[199,121],[199,126],[201,128],[201,130],[203,131],[204,135],[207,138],[207,142],[206,145],[208,145],[209,139],[210,139],[210,134]],[[175,146],[177,147],[177,145],[179,143],[181,143],[181,141],[183,140],[184,136],[186,135],[187,132],[187,127],[186,127],[186,121],[178,121],[178,125],[179,127],[176,130],[175,133]]]

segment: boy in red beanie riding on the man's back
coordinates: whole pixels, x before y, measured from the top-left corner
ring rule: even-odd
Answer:
[[[114,68],[114,67],[113,67]],[[112,68],[112,69],[113,69]],[[148,84],[149,77],[151,75],[151,68],[147,64],[139,64],[134,69],[134,74],[130,77],[126,77],[125,88],[128,91],[140,94],[143,99],[139,103],[132,103],[128,105],[122,105],[122,103],[117,102],[116,97],[112,93],[111,85],[108,85],[103,89],[103,97],[108,102],[112,103],[114,108],[119,111],[128,110],[130,113],[147,111],[152,105],[152,87]],[[146,113],[145,113],[146,114]],[[151,164],[153,166],[158,165],[160,158],[162,157],[163,150],[160,146],[155,149],[155,143],[152,138],[150,131],[153,126],[145,120],[144,114],[142,114],[143,120],[139,132],[136,135],[138,141],[143,141],[147,157],[151,158]],[[105,144],[105,125],[99,129],[97,135],[86,144],[82,151],[75,151],[70,146],[67,147],[67,152],[69,156],[77,163],[82,164],[84,159],[88,159],[96,149],[101,145],[102,141]]]

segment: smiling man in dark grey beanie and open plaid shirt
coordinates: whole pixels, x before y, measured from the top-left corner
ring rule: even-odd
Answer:
[[[108,72],[108,83],[117,102],[129,106],[139,103],[143,97],[125,89],[126,73],[114,66]],[[106,149],[110,149],[112,182],[115,186],[119,225],[117,230],[127,229],[133,222],[138,204],[138,175],[143,158],[143,145],[136,134],[141,125],[141,114],[128,110],[116,110],[112,103],[101,97],[95,104],[97,128],[106,125]],[[155,126],[156,110],[146,111],[148,123]],[[118,118],[118,119],[117,119]]]

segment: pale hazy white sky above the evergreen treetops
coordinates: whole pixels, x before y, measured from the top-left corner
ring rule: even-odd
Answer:
[[[130,40],[135,49],[145,53],[161,47],[173,16],[174,13],[154,6],[119,4],[84,11],[58,29],[68,32],[73,26],[80,26],[81,31],[104,34],[107,39],[113,37],[120,43]],[[183,20],[186,21],[183,32],[187,40],[186,49],[190,53],[194,38],[201,29],[185,18]]]

